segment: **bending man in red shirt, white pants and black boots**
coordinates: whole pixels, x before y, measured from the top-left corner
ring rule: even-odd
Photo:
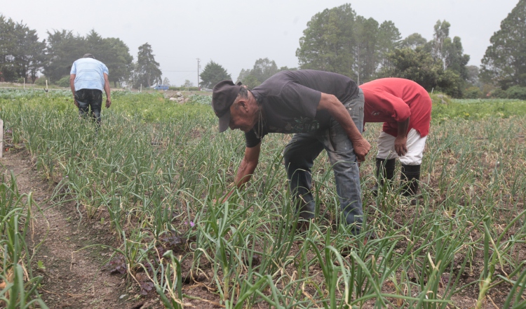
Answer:
[[[365,97],[364,123],[384,122],[376,159],[379,184],[383,185],[384,178],[394,180],[398,157],[403,195],[415,195],[431,121],[429,93],[414,81],[398,78],[377,79],[360,88]],[[378,184],[373,192],[376,194],[377,190]]]

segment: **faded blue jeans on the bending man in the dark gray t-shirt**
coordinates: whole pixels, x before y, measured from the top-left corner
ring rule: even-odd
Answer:
[[[344,103],[360,132],[363,132],[363,105],[361,90],[358,96]],[[358,160],[353,143],[335,119],[331,119],[329,129],[295,134],[285,147],[283,157],[293,202],[297,205],[299,216],[314,217],[316,203],[311,192],[311,168],[314,159],[324,149],[335,173],[336,190],[346,223],[355,225],[353,231],[359,232],[363,210]]]

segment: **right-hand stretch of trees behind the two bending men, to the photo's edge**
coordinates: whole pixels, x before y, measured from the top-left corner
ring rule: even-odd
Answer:
[[[402,39],[391,21],[377,22],[357,15],[350,4],[314,15],[299,39],[296,55],[300,69],[344,74],[358,84],[382,77],[412,79],[428,91],[443,91],[457,98],[526,99],[526,0],[520,0],[501,29],[490,39],[480,67],[468,66],[461,39],[450,37],[450,23],[438,20],[433,39],[414,33]],[[237,81],[249,88],[281,70],[269,58],[243,69]],[[479,74],[480,72],[480,74]],[[479,78],[480,75],[480,78]],[[211,61],[201,74],[200,86],[211,88],[231,79],[227,70]],[[497,88],[496,88],[497,87]]]

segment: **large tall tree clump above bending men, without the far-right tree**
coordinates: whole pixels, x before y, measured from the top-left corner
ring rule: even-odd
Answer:
[[[358,84],[380,77],[403,77],[424,88],[462,96],[469,56],[450,23],[436,22],[433,39],[418,33],[402,39],[390,20],[357,15],[350,4],[325,9],[307,23],[296,55],[302,69],[344,74]]]

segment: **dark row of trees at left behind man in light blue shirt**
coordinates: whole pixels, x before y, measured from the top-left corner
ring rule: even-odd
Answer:
[[[34,82],[42,72],[50,81],[69,84],[75,60],[92,53],[109,68],[109,81],[135,88],[161,84],[162,72],[149,44],[139,47],[133,62],[130,48],[118,38],[102,38],[91,30],[86,37],[67,30],[47,32],[39,41],[36,30],[0,15],[0,79]]]

